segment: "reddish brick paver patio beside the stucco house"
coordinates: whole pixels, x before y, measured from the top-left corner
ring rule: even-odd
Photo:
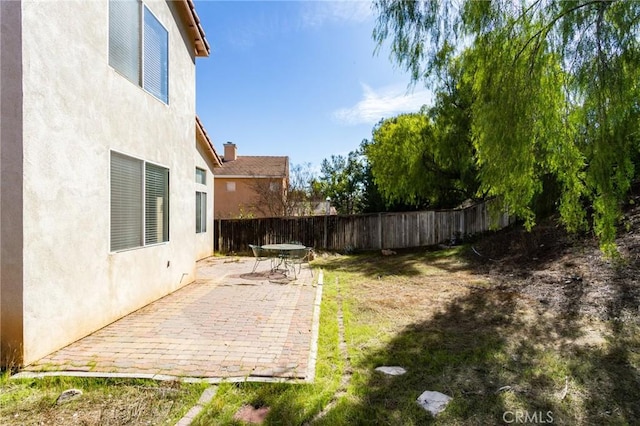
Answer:
[[[24,371],[213,382],[312,378],[319,287],[307,265],[296,280],[262,265],[251,274],[251,258],[201,261],[194,283]]]

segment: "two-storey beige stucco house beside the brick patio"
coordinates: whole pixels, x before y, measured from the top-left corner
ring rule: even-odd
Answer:
[[[21,365],[194,280],[219,159],[192,0],[0,1],[0,24],[0,358]]]

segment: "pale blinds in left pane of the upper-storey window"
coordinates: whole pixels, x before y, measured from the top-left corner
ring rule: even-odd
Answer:
[[[109,2],[109,65],[140,85],[140,4]]]

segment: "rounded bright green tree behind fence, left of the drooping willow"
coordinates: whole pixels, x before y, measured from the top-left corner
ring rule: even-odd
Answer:
[[[382,120],[364,146],[374,180],[390,203],[452,208],[478,195],[471,142],[471,88],[453,62],[432,108]]]

